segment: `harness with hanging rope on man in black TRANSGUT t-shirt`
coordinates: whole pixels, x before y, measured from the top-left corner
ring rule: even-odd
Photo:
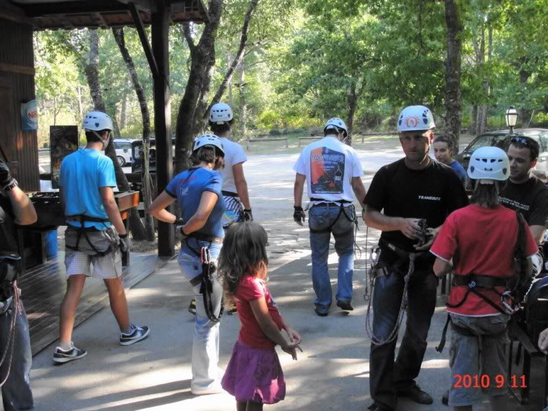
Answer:
[[[417,245],[419,247],[421,247],[422,245],[425,245],[429,241],[430,238],[432,238],[432,234],[429,234],[429,232],[427,230],[428,227],[427,227],[425,219],[421,219],[421,221],[419,221],[419,227],[421,227],[421,235],[420,235],[420,238],[419,238],[419,243]],[[379,245],[382,245],[382,246],[386,247],[387,249],[390,249],[390,251],[393,251],[393,253],[395,253],[399,258],[398,261],[395,262],[395,264],[393,264],[393,269],[391,271],[397,271],[397,269],[399,269],[399,267],[405,265],[407,262],[409,263],[408,271],[407,271],[405,277],[403,277],[403,284],[404,284],[403,285],[403,293],[401,295],[401,303],[400,303],[400,306],[399,306],[399,313],[398,313],[398,316],[397,316],[397,320],[396,320],[394,328],[392,329],[392,331],[388,334],[388,336],[384,340],[382,338],[379,338],[378,336],[375,336],[375,333],[373,332],[373,324],[371,323],[372,322],[372,319],[371,319],[371,301],[373,301],[373,298],[369,298],[369,302],[367,304],[367,313],[366,313],[366,317],[365,317],[365,331],[366,331],[367,335],[369,336],[369,338],[371,338],[371,343],[373,343],[375,345],[386,345],[386,344],[392,343],[398,336],[398,330],[399,330],[399,327],[401,326],[401,322],[403,321],[403,312],[406,311],[406,307],[407,307],[407,293],[408,293],[410,279],[411,279],[411,277],[412,277],[412,275],[415,271],[415,262],[416,262],[417,258],[421,258],[421,257],[426,256],[427,254],[429,254],[429,251],[419,251],[419,252],[416,252],[416,253],[409,253],[407,251],[403,251],[399,247],[396,247],[392,243],[384,240],[383,238],[381,238],[379,240]],[[375,258],[376,258],[375,265],[371,266],[371,271],[370,272],[374,277],[373,286],[371,288],[371,295],[373,295],[373,287],[375,286],[374,282],[377,279],[377,277],[382,277],[382,276],[385,276],[385,275],[396,275],[395,273],[390,274],[388,272],[388,269],[386,268],[386,266],[379,266],[381,264],[380,263],[380,253],[382,252],[381,250],[382,249],[379,249],[378,252],[375,252],[375,254],[376,254],[375,255]],[[379,273],[379,271],[380,271],[380,273]]]

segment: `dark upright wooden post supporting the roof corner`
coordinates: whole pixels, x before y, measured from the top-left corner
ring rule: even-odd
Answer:
[[[169,90],[169,5],[165,0],[155,1],[156,12],[152,15],[152,50],[158,66],[153,75],[154,132],[156,136],[156,178],[158,195],[173,177],[171,149],[171,96]],[[169,210],[169,209],[168,209]],[[158,255],[171,257],[175,254],[173,225],[158,221]]]

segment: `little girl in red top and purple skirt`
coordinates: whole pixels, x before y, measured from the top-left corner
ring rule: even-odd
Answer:
[[[297,349],[301,350],[301,336],[284,321],[266,288],[267,242],[266,231],[259,224],[235,223],[228,229],[219,255],[225,305],[236,301],[242,323],[221,382],[236,397],[237,411],[262,410],[263,404],[282,401],[286,382],[274,347],[282,347],[293,360],[297,360]]]

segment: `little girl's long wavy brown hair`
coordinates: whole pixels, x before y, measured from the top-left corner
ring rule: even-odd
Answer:
[[[261,269],[266,269],[268,240],[264,228],[253,221],[234,223],[227,230],[219,254],[219,280],[223,284],[227,307],[234,303],[234,292],[243,277],[256,276]]]

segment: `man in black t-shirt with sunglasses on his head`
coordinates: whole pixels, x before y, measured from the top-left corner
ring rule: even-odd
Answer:
[[[532,169],[538,158],[538,142],[515,136],[508,148],[510,179],[501,190],[501,204],[523,214],[537,243],[543,238],[548,218],[548,188],[535,177]]]

